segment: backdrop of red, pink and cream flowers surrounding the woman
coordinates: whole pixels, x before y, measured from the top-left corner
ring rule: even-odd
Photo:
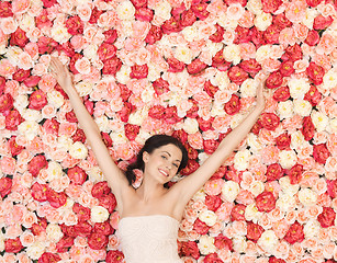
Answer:
[[[336,262],[336,10],[334,0],[1,1],[0,262],[124,262],[114,195],[50,56],[69,65],[122,169],[153,134],[184,142],[190,161],[175,181],[241,122],[269,76],[259,121],[188,204],[179,254]]]

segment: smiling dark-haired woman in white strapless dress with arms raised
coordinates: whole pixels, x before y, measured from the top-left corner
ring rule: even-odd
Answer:
[[[74,88],[67,67],[57,58],[52,58],[49,67],[68,94],[99,167],[116,197],[121,217],[119,235],[126,263],[181,262],[177,236],[184,207],[258,119],[265,107],[263,82],[257,89],[255,108],[241,124],[222,140],[216,151],[194,173],[167,188],[165,184],[187,164],[187,151],[181,142],[165,135],[150,137],[125,175],[112,160],[97,124]],[[138,188],[132,186],[133,168],[143,170]]]

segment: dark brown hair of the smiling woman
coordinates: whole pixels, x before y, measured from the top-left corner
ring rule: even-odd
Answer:
[[[131,163],[126,168],[125,176],[126,176],[130,185],[132,185],[136,181],[136,174],[134,172],[135,169],[138,169],[142,172],[144,172],[145,163],[144,163],[144,160],[143,160],[143,153],[145,151],[148,152],[148,153],[151,153],[157,148],[159,148],[161,146],[166,146],[166,145],[175,145],[181,150],[182,159],[181,159],[180,165],[178,168],[178,172],[186,168],[186,165],[188,164],[189,157],[188,157],[188,151],[184,148],[184,146],[181,144],[181,141],[178,140],[177,138],[172,137],[172,136],[169,136],[169,135],[154,135],[145,141],[145,145],[143,146],[143,148],[141,149],[141,151],[137,155],[136,161]],[[168,187],[167,183],[164,186]]]

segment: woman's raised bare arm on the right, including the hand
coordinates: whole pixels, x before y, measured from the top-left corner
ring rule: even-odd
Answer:
[[[245,119],[234,128],[218,145],[217,149],[210,156],[204,163],[192,174],[175,185],[175,194],[179,196],[181,203],[187,203],[198,192],[204,183],[216,172],[216,170],[229,157],[233,150],[241,142],[257,122],[265,108],[263,96],[265,81],[261,81],[257,89],[257,101],[255,108]]]

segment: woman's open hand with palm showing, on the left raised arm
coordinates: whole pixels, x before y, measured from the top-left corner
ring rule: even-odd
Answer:
[[[72,87],[72,78],[67,66],[63,65],[58,58],[52,57],[49,69],[52,75],[57,80],[58,84],[66,93],[69,93]]]

